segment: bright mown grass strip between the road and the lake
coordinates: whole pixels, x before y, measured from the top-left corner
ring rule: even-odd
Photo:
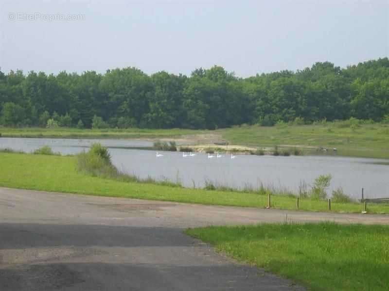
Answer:
[[[2,187],[208,205],[257,208],[267,205],[267,196],[256,193],[206,191],[92,177],[77,171],[77,157],[74,156],[0,152],[0,162]],[[272,207],[293,210],[296,200],[290,196],[273,195]],[[327,211],[327,202],[301,199],[300,210]],[[360,213],[361,210],[362,205],[358,203],[332,203],[333,212]],[[389,213],[389,205],[369,204],[368,211]]]

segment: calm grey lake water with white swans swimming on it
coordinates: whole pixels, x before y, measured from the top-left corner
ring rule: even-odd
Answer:
[[[188,187],[203,187],[208,179],[232,187],[246,184],[256,187],[264,183],[298,191],[301,181],[311,184],[319,175],[331,174],[329,193],[342,187],[346,194],[360,198],[364,187],[365,197],[389,197],[389,165],[379,164],[388,160],[248,155],[238,155],[231,160],[229,157],[208,159],[205,154],[183,158],[179,152],[160,152],[163,157],[157,158],[155,151],[131,148],[152,146],[152,142],[139,140],[0,138],[0,148],[31,152],[48,145],[62,154],[75,154],[88,149],[94,142],[107,146],[112,162],[126,173],[141,178],[179,179]]]

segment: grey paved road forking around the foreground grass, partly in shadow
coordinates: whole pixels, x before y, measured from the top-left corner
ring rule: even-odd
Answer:
[[[258,222],[388,224],[386,215],[215,207],[0,188],[1,291],[304,290],[182,233]]]

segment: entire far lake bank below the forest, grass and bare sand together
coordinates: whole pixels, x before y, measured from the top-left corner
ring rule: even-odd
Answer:
[[[185,138],[188,144],[213,143],[227,140],[230,148],[279,146],[280,149],[301,148],[304,154],[323,154],[319,147],[327,147],[325,154],[339,156],[389,159],[389,125],[362,124],[351,121],[325,122],[318,125],[258,125],[217,130],[191,129],[42,129],[0,128],[3,137],[53,138]],[[184,142],[185,144],[185,142]],[[332,149],[336,147],[337,151]]]

